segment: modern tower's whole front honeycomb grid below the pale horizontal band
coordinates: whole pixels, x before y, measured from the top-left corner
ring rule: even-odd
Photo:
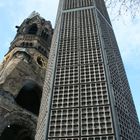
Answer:
[[[114,130],[111,112],[109,114],[108,111],[110,101],[93,9],[63,13],[62,23],[51,106],[55,113],[50,116],[49,138],[89,134],[96,139],[114,139],[113,136],[104,136],[112,135]],[[85,130],[82,116],[84,110],[90,109],[97,109],[99,113],[87,112],[89,128]],[[77,110],[78,118],[75,118],[75,113],[64,115],[64,110]],[[59,117],[58,112],[62,112]],[[95,124],[99,128],[91,128],[94,120],[91,120],[90,114],[95,120],[102,120],[102,123]],[[68,122],[70,118],[72,121]],[[78,125],[72,123],[74,120]]]

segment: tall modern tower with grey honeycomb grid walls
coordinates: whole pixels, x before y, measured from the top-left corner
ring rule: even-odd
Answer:
[[[60,0],[36,140],[140,140],[103,0]]]

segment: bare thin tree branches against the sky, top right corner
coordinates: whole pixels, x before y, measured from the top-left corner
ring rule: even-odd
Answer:
[[[129,13],[132,18],[140,12],[140,0],[105,0],[108,8],[115,9],[116,15],[120,16]]]

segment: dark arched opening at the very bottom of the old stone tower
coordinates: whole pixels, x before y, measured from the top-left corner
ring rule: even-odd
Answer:
[[[8,125],[0,136],[0,140],[34,140],[30,130],[20,125]]]

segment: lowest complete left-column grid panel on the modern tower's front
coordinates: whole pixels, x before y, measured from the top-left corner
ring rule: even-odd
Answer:
[[[78,136],[78,124],[78,109],[52,110],[49,125],[49,137]]]

